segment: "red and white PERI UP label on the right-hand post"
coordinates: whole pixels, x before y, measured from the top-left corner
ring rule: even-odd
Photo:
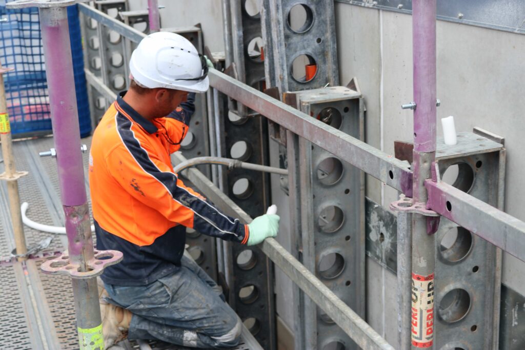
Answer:
[[[412,273],[412,345],[432,347],[434,338],[434,274]]]

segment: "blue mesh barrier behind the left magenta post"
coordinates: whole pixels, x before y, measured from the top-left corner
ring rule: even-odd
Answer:
[[[77,6],[68,7],[69,32],[80,134],[91,133],[86,77],[83,71],[82,42]],[[44,49],[36,7],[6,9],[0,2],[0,60],[14,71],[4,74],[7,112],[14,136],[51,131]]]

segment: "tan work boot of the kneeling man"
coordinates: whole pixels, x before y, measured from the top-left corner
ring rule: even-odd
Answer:
[[[104,283],[97,278],[99,289],[100,316],[102,318],[102,334],[104,335],[104,346],[109,348],[111,345],[125,338],[125,331],[129,330],[132,313],[113,305],[107,301],[108,292],[104,288]]]

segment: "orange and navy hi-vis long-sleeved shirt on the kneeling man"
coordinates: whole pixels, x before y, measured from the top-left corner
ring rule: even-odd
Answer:
[[[144,285],[176,270],[185,227],[248,241],[247,225],[220,212],[173,173],[170,154],[187,133],[193,100],[190,94],[169,116],[149,121],[118,97],[93,133],[89,184],[97,248],[124,253],[122,262],[104,270],[106,283]]]

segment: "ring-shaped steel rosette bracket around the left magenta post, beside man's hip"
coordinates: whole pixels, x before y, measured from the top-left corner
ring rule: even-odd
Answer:
[[[69,259],[68,251],[59,257],[45,261],[41,269],[47,274],[69,274],[76,279],[88,279],[101,275],[104,269],[122,261],[123,254],[118,250],[94,250],[95,256],[86,262],[89,271],[79,271],[80,264]]]

